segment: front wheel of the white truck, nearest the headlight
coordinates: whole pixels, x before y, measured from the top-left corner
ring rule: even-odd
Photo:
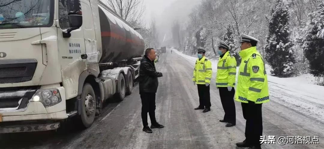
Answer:
[[[89,128],[96,114],[96,96],[91,84],[83,86],[81,94],[81,109],[79,109],[79,124],[82,128]]]

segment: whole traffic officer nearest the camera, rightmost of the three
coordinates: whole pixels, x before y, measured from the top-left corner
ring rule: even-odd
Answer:
[[[242,34],[242,62],[239,67],[235,100],[241,102],[246,119],[245,140],[237,147],[261,148],[262,103],[269,102],[268,80],[262,56],[256,49],[258,39]]]

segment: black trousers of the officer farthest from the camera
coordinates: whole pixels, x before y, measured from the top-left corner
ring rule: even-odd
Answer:
[[[210,85],[197,84],[198,95],[199,95],[199,107],[210,108],[212,104],[210,103]]]

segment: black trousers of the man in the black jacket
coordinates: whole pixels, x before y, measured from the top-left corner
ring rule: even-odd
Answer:
[[[143,126],[148,126],[147,113],[150,115],[151,124],[156,124],[155,119],[155,93],[141,93]]]

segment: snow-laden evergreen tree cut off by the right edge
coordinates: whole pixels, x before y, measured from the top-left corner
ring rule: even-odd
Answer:
[[[305,57],[309,61],[310,73],[315,77],[324,77],[324,1],[318,5],[318,11],[307,25],[306,36],[301,40]]]

